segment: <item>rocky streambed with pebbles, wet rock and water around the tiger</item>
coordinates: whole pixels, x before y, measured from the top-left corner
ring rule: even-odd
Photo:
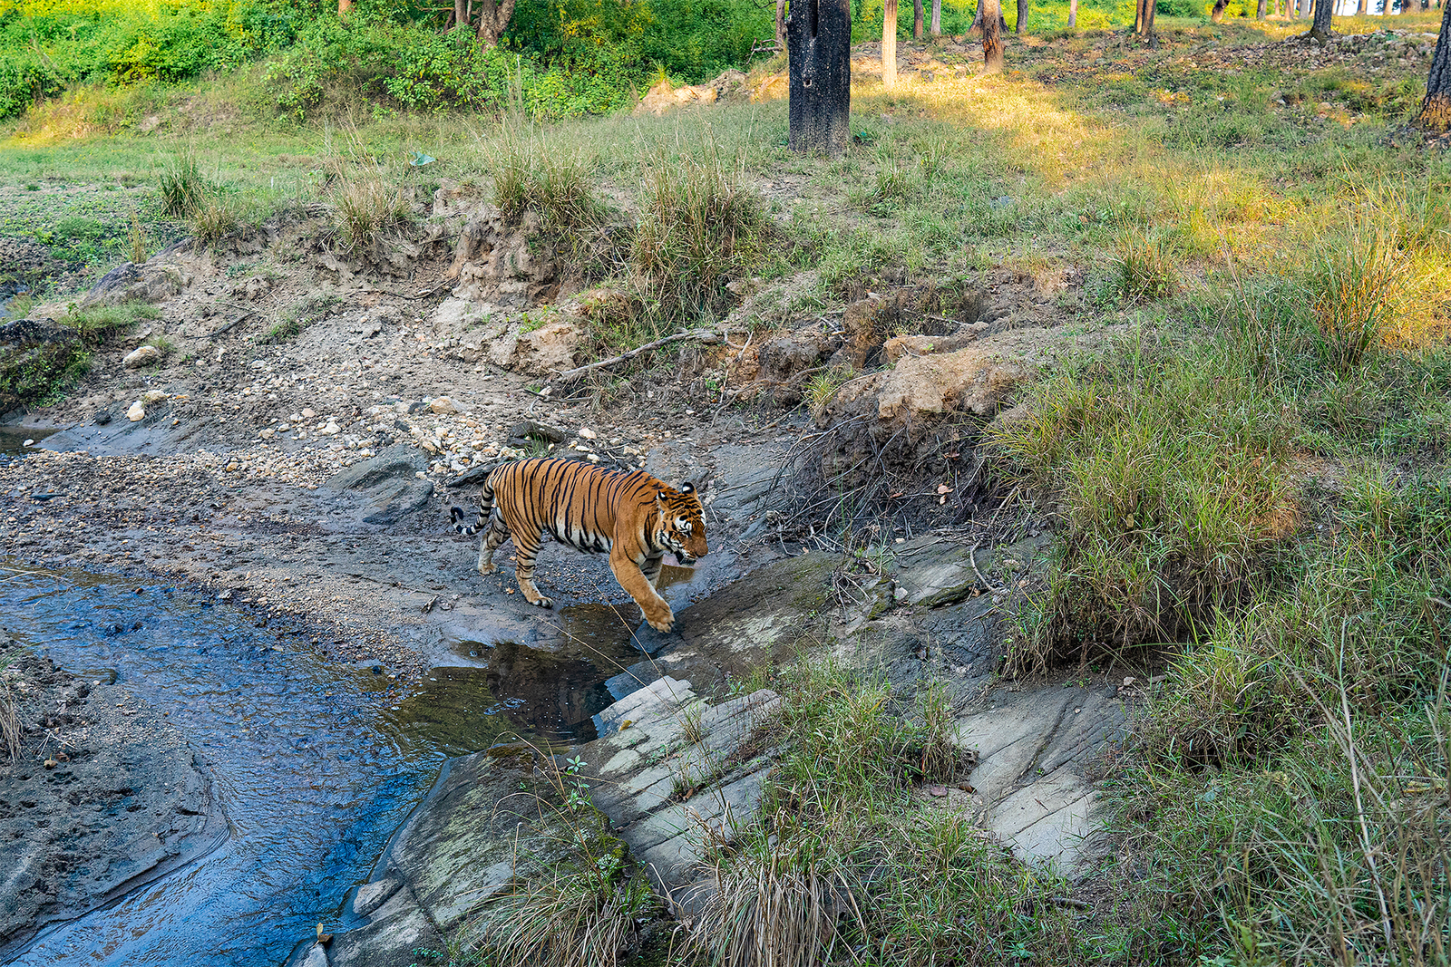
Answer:
[[[1085,868],[1088,763],[1136,690],[998,677],[1001,581],[1046,536],[972,525],[971,452],[1017,380],[1098,338],[1053,316],[1077,281],[859,293],[691,349],[673,381],[572,400],[541,384],[588,354],[588,300],[457,186],[432,215],[390,267],[341,260],[303,210],[109,274],[83,302],[157,313],[7,429],[3,674],[23,735],[0,773],[20,803],[0,818],[0,955],[412,964],[544,874],[562,761],[662,909],[688,913],[708,890],[701,831],[749,819],[770,776],[750,735],[778,696],[740,683],[801,649],[876,668],[907,700],[948,683],[978,764],[943,808],[1027,861]],[[524,315],[544,302],[547,325]],[[887,338],[949,303],[956,331]],[[71,338],[62,307],[30,316],[6,329],[22,354],[35,325]],[[823,367],[882,361],[791,409]],[[731,406],[752,397],[768,406]],[[920,526],[887,525],[866,558],[797,526],[882,447],[940,451],[894,494],[927,509]],[[472,502],[470,471],[524,452],[701,487],[712,549],[667,568],[675,632],[641,626],[599,557],[546,545],[551,612],[474,571],[448,506]]]

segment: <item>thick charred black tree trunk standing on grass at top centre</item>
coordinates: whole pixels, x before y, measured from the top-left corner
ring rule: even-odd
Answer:
[[[837,158],[852,138],[850,0],[794,0],[786,17],[792,151]]]

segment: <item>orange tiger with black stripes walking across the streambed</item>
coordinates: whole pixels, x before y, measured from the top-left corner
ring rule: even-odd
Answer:
[[[676,490],[643,470],[611,470],[579,460],[538,457],[493,468],[479,494],[479,518],[466,525],[451,507],[454,531],[473,535],[488,523],[479,548],[479,573],[493,574],[493,552],[511,536],[518,564],[514,578],[538,607],[554,602],[534,587],[534,563],[544,532],[586,554],[609,552],[609,570],[656,631],[670,631],[675,613],[654,590],[666,551],[681,564],[705,557],[705,516],[696,489]]]

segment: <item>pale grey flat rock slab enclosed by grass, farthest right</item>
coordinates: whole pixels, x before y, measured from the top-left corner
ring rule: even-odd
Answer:
[[[978,750],[972,784],[987,826],[1027,861],[1077,876],[1097,855],[1098,796],[1087,761],[1122,736],[1123,702],[1111,687],[1062,684],[992,692],[958,721],[958,739]]]

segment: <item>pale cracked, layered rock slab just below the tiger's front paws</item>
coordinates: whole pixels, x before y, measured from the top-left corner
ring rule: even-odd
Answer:
[[[673,909],[708,889],[701,842],[756,815],[770,760],[744,742],[779,706],[769,689],[708,706],[666,677],[599,713],[580,751],[589,796]]]

